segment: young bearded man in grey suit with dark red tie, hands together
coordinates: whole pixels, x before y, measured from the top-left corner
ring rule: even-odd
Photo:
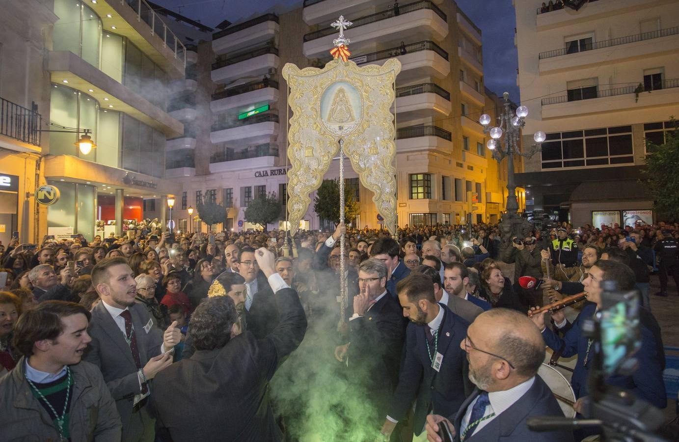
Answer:
[[[143,304],[135,303],[136,282],[124,258],[107,258],[92,269],[101,302],[92,310],[92,342],[85,360],[104,375],[123,424],[122,441],[153,441],[155,420],[147,411],[151,380],[172,363],[181,341],[177,321],[163,333]]]

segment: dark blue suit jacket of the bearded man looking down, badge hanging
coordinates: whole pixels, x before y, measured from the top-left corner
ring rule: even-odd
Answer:
[[[419,435],[430,410],[450,416],[464,401],[464,372],[466,353],[460,342],[466,336],[469,323],[439,303],[443,309],[443,322],[439,328],[437,352],[443,354],[437,372],[427,354],[427,325],[411,322],[405,331],[405,360],[399,375],[399,386],[394,392],[389,416],[403,420],[411,403],[417,397],[413,430]],[[432,349],[433,350],[433,349]]]

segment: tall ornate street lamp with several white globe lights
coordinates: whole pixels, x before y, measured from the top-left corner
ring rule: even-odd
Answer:
[[[479,117],[479,123],[483,126],[483,133],[490,134],[490,140],[485,144],[492,152],[492,157],[501,162],[507,157],[507,213],[502,217],[500,223],[500,230],[506,238],[506,243],[511,240],[513,236],[522,238],[524,223],[528,221],[522,219],[517,211],[519,210],[519,202],[516,198],[516,183],[514,181],[514,155],[521,155],[522,157],[530,158],[540,150],[540,145],[545,141],[545,132],[538,130],[533,135],[535,144],[530,147],[530,151],[522,153],[519,149],[519,137],[521,136],[521,128],[526,126],[526,116],[528,116],[528,107],[519,106],[516,112],[511,110],[511,102],[509,101],[509,92],[504,92],[504,111],[500,113],[500,123],[498,126],[490,126],[490,115],[484,113]]]

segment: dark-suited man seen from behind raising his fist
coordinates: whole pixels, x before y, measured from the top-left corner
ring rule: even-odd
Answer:
[[[306,332],[297,292],[274,268],[274,255],[256,251],[259,267],[275,291],[280,320],[264,339],[240,334],[231,297],[205,299],[191,316],[196,352],[155,378],[153,404],[160,426],[175,441],[280,441],[268,384]],[[181,405],[177,401],[181,401]]]

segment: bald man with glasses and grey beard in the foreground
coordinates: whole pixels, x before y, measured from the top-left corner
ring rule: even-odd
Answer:
[[[477,388],[455,416],[427,416],[429,441],[445,423],[455,440],[465,442],[566,442],[570,430],[533,432],[526,420],[534,416],[559,416],[549,386],[537,375],[545,359],[545,341],[525,314],[494,308],[477,316],[460,348],[467,352],[469,379]]]

